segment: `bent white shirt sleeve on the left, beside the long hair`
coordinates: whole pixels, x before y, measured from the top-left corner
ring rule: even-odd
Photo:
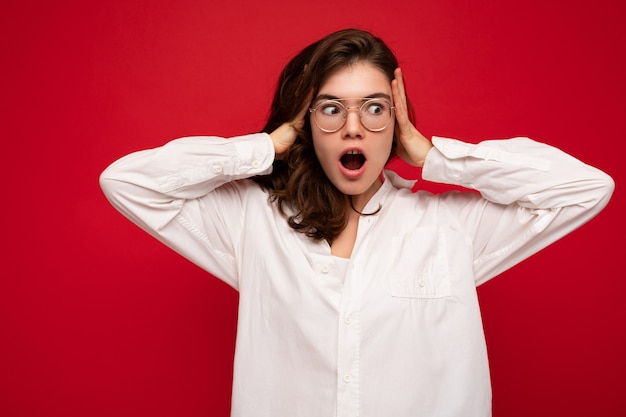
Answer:
[[[100,176],[111,204],[133,223],[238,289],[236,248],[246,198],[268,174],[274,148],[260,133],[195,136],[127,155]]]

